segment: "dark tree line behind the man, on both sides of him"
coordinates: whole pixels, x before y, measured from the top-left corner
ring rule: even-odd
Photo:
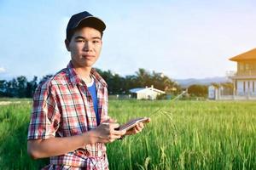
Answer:
[[[180,92],[180,87],[176,82],[173,82],[169,77],[161,73],[152,71],[152,73],[139,69],[136,75],[121,77],[119,74],[112,71],[101,71],[96,69],[99,74],[108,83],[108,94],[130,94],[131,88],[144,88],[151,85],[167,93],[174,93],[172,89],[177,89],[176,94]],[[46,75],[40,81],[43,83],[53,75]],[[28,82],[26,77],[20,76],[13,78],[11,81],[0,80],[0,97],[18,97],[32,98],[35,89],[38,86],[38,77],[34,77],[31,82]],[[174,93],[174,94],[175,94]]]

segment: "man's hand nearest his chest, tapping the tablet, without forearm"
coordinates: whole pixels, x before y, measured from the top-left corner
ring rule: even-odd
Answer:
[[[123,135],[125,135],[126,130],[114,130],[114,128],[119,127],[119,124],[116,123],[116,120],[109,119],[106,122],[102,122],[96,129],[94,130],[94,139],[93,143],[110,143],[115,139],[120,139]]]

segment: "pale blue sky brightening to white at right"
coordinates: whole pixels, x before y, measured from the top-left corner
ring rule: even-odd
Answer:
[[[231,57],[256,48],[255,8],[253,0],[0,0],[0,79],[65,68],[67,22],[84,10],[107,25],[95,65],[102,71],[224,77],[236,71]]]

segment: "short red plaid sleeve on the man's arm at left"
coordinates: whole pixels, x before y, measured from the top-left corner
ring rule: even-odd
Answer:
[[[27,139],[49,139],[55,137],[60,124],[54,90],[49,82],[38,86],[33,96],[32,115]]]

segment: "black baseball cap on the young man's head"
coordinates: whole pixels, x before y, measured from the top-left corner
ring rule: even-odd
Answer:
[[[103,32],[106,29],[106,25],[101,19],[93,16],[87,11],[84,11],[79,14],[74,14],[68,21],[67,30],[66,30],[67,39],[71,38],[70,37],[71,32],[75,28],[78,28],[79,26],[89,26],[89,27],[95,28],[100,32]]]

